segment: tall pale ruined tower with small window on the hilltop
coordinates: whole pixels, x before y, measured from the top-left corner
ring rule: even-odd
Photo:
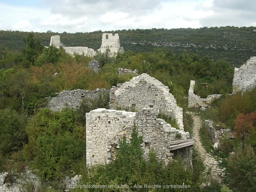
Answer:
[[[120,40],[118,34],[103,33],[102,43],[98,51],[104,53],[106,49],[110,49],[109,56],[115,56],[118,52],[123,53],[124,49],[120,46]]]

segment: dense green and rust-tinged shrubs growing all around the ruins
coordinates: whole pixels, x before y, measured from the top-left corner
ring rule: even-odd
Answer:
[[[214,29],[224,30],[224,28]],[[214,29],[203,28],[201,30]],[[196,30],[188,30],[196,32]],[[244,30],[248,34],[253,34],[250,31],[251,28],[231,27],[230,30]],[[147,30],[128,30],[130,33],[136,31],[144,33]],[[161,30],[152,29],[148,30],[148,33],[150,34],[152,31],[160,34]],[[182,29],[177,31],[182,31]],[[120,32],[118,33],[120,34]],[[25,34],[23,32],[4,33],[14,34],[16,38]],[[92,42],[94,42],[93,38],[98,35],[97,38],[100,39],[102,33],[88,34],[91,35]],[[179,158],[164,166],[161,162],[157,162],[154,151],[151,152],[150,161],[146,162],[142,158],[141,148],[138,147],[141,138],[137,136],[136,130],[134,130],[133,140],[130,144],[125,142],[125,138],[120,144],[121,148],[116,161],[91,169],[86,168],[86,135],[83,114],[94,108],[108,108],[108,96],[100,95],[99,98],[89,102],[82,102],[76,110],[65,108],[60,112],[51,112],[46,108],[48,101],[46,97],[56,96],[56,92],[62,90],[109,89],[117,83],[123,83],[132,78],[131,75],[118,74],[117,68],[122,67],[137,69],[139,74],[147,73],[160,80],[170,88],[178,105],[186,111],[190,80],[196,80],[195,92],[202,97],[206,97],[208,94],[229,94],[232,91],[234,68],[229,62],[222,59],[211,60],[208,56],[200,56],[195,53],[190,54],[189,49],[178,53],[173,47],[154,47],[150,52],[137,53],[127,50],[124,54],[118,54],[116,58],[98,53],[94,58],[100,61],[102,67],[100,72],[95,73],[88,68],[88,62],[92,58],[80,55],[72,57],[66,54],[62,48],[57,49],[53,46],[44,48],[40,44],[40,42],[44,42],[44,39],[37,39],[40,35],[42,34],[26,34],[24,42],[17,46],[20,46],[21,52],[16,52],[17,49],[11,46],[6,46],[6,49],[2,49],[1,52],[1,171],[15,170],[19,172],[25,166],[30,166],[37,170],[37,174],[41,176],[44,184],[53,186],[52,191],[62,190],[60,181],[66,176],[75,174],[83,175],[83,184],[135,185],[144,183],[182,184],[184,182],[184,184],[191,184],[190,191],[201,190],[200,183],[205,181],[204,166],[196,150],[193,152],[193,170]],[[49,38],[45,37],[45,40],[48,41],[52,33],[44,35],[49,36]],[[66,35],[68,37],[70,34]],[[162,36],[164,39],[164,34]],[[0,45],[5,46],[6,42],[2,42],[2,44],[0,42]],[[72,46],[76,46],[76,44]],[[137,46],[137,48],[139,47]],[[208,88],[205,86],[206,83]],[[230,174],[227,176],[226,184],[234,191],[255,191],[255,98],[256,90],[242,96],[240,94],[226,95],[216,101],[206,112],[208,118],[213,119],[220,128],[232,128],[237,131],[236,139],[223,139],[220,151],[222,156],[228,157]],[[175,126],[176,122],[168,116],[161,116],[161,118],[166,118]],[[184,114],[184,128],[191,132],[191,127],[191,116]],[[235,153],[230,154],[230,152]],[[248,177],[247,180],[242,179],[244,174]],[[213,191],[211,187],[218,188],[218,191],[229,191],[228,188],[220,184],[210,186],[202,191]],[[161,190],[163,189],[159,189],[159,191]],[[183,190],[177,189],[176,191]],[[46,191],[46,188],[42,191]],[[142,189],[137,189],[137,191],[142,191]]]

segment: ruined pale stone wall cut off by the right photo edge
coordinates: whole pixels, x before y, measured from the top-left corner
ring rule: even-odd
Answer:
[[[232,86],[232,93],[243,93],[256,87],[256,57],[251,57],[240,68],[235,68]]]

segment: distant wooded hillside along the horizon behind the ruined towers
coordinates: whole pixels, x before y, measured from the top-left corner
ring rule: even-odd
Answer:
[[[187,50],[210,59],[225,59],[233,66],[240,66],[251,56],[256,56],[256,27],[212,27],[180,29],[136,29],[107,31],[118,33],[124,50],[151,52],[155,48],[172,49],[174,53]],[[50,37],[60,35],[65,46],[87,46],[97,50],[101,45],[102,31],[89,33],[34,33],[44,46]],[[0,31],[0,52],[17,52],[24,48],[23,38],[28,32]]]

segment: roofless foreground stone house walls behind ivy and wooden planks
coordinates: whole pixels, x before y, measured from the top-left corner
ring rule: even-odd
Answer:
[[[115,159],[120,140],[125,135],[131,139],[134,126],[143,137],[141,144],[144,158],[148,159],[150,149],[154,148],[158,159],[168,163],[174,154],[181,154],[189,161],[188,149],[170,151],[168,142],[189,139],[189,133],[172,128],[164,120],[156,118],[157,110],[144,108],[139,112],[106,110],[98,108],[86,113],[86,164],[104,164]]]

